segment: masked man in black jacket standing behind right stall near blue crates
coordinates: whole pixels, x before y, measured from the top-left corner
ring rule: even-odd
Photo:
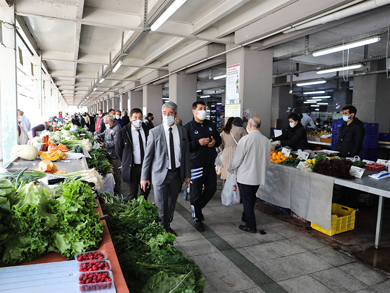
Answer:
[[[336,151],[340,157],[358,156],[363,147],[363,138],[366,134],[363,122],[356,118],[357,109],[354,106],[343,108],[344,123],[340,128]]]

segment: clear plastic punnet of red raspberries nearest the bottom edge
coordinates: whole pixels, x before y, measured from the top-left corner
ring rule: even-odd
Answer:
[[[104,290],[115,292],[114,277],[111,271],[99,271],[96,273],[81,273],[78,279],[80,291]],[[110,288],[112,287],[112,290]]]

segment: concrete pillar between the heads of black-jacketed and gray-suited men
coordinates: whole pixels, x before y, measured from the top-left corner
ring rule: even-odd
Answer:
[[[162,122],[161,106],[162,106],[162,84],[160,85],[144,85],[142,91],[144,116],[147,113],[153,113],[154,126],[160,125]]]

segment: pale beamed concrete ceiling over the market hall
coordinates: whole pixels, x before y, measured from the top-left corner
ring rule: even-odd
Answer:
[[[108,73],[84,105],[105,99],[113,92],[119,93],[129,83],[157,69],[168,70],[168,65],[208,44],[236,46],[350,2],[352,0],[187,0],[157,31],[149,32],[129,52],[116,73]],[[164,0],[149,0],[148,16],[163,3]],[[380,8],[378,12],[380,10],[388,13],[388,8]],[[42,60],[69,105],[78,105],[83,100],[88,86],[96,82],[98,72],[101,75],[102,65],[104,71],[107,70],[110,51],[113,61],[120,55],[122,31],[125,48],[142,31],[143,11],[143,0],[15,2],[16,14],[26,24],[28,34],[35,40]],[[310,46],[382,28],[390,21],[388,14],[385,20],[383,17],[379,20],[370,12],[365,15],[369,25],[365,25],[359,22],[359,17],[355,17],[353,25],[339,21],[338,26],[324,25],[326,31],[318,27],[312,33],[309,31]],[[279,35],[273,43],[275,56],[303,49],[303,33],[293,34],[295,40],[288,40],[290,35]],[[261,50],[265,44],[255,43],[251,47]],[[361,50],[351,51],[350,58],[360,58]],[[382,41],[370,46],[370,54],[382,50]],[[309,68],[313,64],[339,63],[339,59],[331,56],[312,60],[310,56],[300,56],[295,61],[302,63],[301,68]],[[277,66],[279,73],[290,71],[288,61],[281,61]],[[274,73],[276,71],[274,68]]]

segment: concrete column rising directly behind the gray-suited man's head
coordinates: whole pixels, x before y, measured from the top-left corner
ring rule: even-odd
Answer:
[[[169,101],[177,104],[177,118],[183,125],[192,119],[191,105],[197,100],[197,73],[169,76]]]

